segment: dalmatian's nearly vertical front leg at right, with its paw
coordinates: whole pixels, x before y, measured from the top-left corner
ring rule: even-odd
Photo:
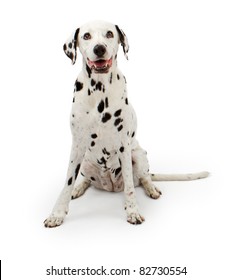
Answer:
[[[121,153],[120,160],[126,197],[125,208],[127,212],[127,221],[131,224],[141,224],[144,218],[139,214],[136,201],[130,146]]]

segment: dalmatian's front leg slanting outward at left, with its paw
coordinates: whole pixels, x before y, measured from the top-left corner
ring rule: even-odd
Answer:
[[[52,213],[44,221],[45,227],[56,227],[63,223],[63,220],[69,210],[72,190],[78,176],[83,157],[84,149],[80,149],[80,147],[78,148],[77,144],[73,142],[65,186],[56,201]]]

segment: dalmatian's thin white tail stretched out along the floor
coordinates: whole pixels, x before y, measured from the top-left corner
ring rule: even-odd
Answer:
[[[150,174],[152,181],[191,181],[206,178],[209,172],[203,171],[189,174]]]

